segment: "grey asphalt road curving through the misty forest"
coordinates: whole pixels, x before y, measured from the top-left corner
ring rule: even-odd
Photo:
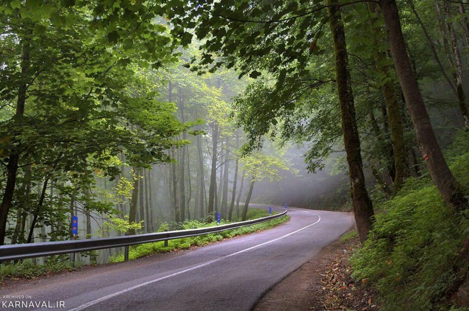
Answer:
[[[289,222],[260,233],[7,287],[0,309],[2,301],[20,300],[64,301],[65,310],[250,310],[353,223],[345,213],[289,207],[288,214]]]

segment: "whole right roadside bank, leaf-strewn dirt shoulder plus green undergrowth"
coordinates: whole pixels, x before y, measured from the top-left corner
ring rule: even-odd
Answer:
[[[445,153],[466,187],[468,138],[460,133]],[[409,178],[375,206],[380,212],[363,247],[356,232],[344,235],[274,287],[257,309],[467,310],[467,211],[453,214],[428,176]],[[303,293],[285,292],[288,284]]]

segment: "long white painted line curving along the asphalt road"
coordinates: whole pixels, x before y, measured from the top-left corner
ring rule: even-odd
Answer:
[[[100,302],[103,302],[103,301],[105,301],[105,300],[108,300],[108,299],[111,299],[111,298],[113,298],[113,297],[116,297],[116,296],[118,296],[118,295],[120,295],[120,294],[129,292],[129,291],[132,291],[132,290],[134,290],[134,289],[137,289],[137,288],[140,288],[140,287],[143,287],[143,286],[146,286],[146,285],[149,285],[149,284],[152,284],[152,283],[155,283],[155,282],[164,280],[164,279],[166,279],[166,278],[170,278],[170,277],[172,277],[172,276],[176,276],[176,275],[178,275],[178,274],[182,274],[182,273],[189,272],[189,271],[192,271],[192,270],[195,270],[195,269],[198,269],[198,268],[202,268],[202,267],[205,267],[205,266],[207,266],[207,265],[213,264],[213,263],[215,263],[215,262],[217,262],[217,261],[220,261],[220,260],[222,260],[222,259],[225,259],[225,258],[228,258],[228,257],[232,257],[232,256],[235,256],[235,255],[238,255],[238,254],[247,252],[247,251],[249,251],[249,250],[251,250],[251,249],[254,249],[254,248],[257,248],[257,247],[260,247],[260,246],[263,246],[263,245],[266,245],[266,244],[269,244],[269,243],[278,241],[279,239],[282,239],[282,238],[287,237],[287,236],[290,236],[290,235],[292,235],[292,234],[294,234],[294,233],[298,233],[298,232],[300,232],[300,231],[302,231],[302,230],[305,230],[306,228],[309,228],[309,227],[311,227],[311,226],[313,226],[313,225],[315,225],[315,224],[317,224],[318,222],[321,221],[321,217],[320,217],[319,215],[316,215],[316,214],[313,214],[313,215],[315,215],[315,216],[318,217],[318,220],[317,220],[317,221],[315,221],[313,224],[310,224],[310,225],[308,225],[308,226],[306,226],[306,227],[303,227],[303,228],[301,228],[301,229],[298,229],[298,230],[296,230],[296,231],[294,231],[294,232],[291,232],[291,233],[282,235],[282,236],[280,236],[280,237],[274,238],[273,240],[270,240],[270,241],[267,241],[267,242],[264,242],[264,243],[261,243],[261,244],[255,245],[255,246],[251,246],[251,247],[249,247],[249,248],[240,250],[240,251],[235,252],[235,253],[233,253],[233,254],[226,255],[226,256],[223,256],[223,257],[221,257],[221,258],[217,258],[217,259],[214,259],[214,260],[207,261],[207,262],[205,262],[205,263],[203,263],[203,264],[197,265],[197,266],[192,267],[192,268],[188,268],[188,269],[185,269],[185,270],[182,270],[182,271],[179,271],[179,272],[174,272],[174,273],[172,273],[172,274],[168,274],[168,275],[165,275],[165,276],[156,278],[156,279],[154,279],[154,280],[151,280],[151,281],[148,281],[148,282],[145,282],[145,283],[141,283],[141,284],[138,284],[138,285],[134,285],[134,286],[128,287],[128,288],[126,288],[126,289],[123,289],[123,290],[121,290],[121,291],[115,292],[115,293],[113,293],[113,294],[109,294],[109,295],[107,295],[107,296],[104,296],[104,297],[101,297],[101,298],[92,300],[92,301],[90,301],[90,302],[88,302],[88,303],[86,303],[86,304],[80,305],[80,306],[78,306],[78,307],[76,307],[76,308],[74,308],[74,309],[70,309],[70,310],[71,310],[71,311],[83,310],[83,309],[86,309],[86,308],[91,307],[91,306],[93,306],[93,305],[99,304]]]

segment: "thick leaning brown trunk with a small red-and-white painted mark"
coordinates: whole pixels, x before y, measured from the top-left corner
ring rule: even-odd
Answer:
[[[426,163],[431,179],[439,193],[448,204],[459,210],[467,204],[465,192],[451,173],[436,141],[430,117],[407,55],[396,2],[395,0],[380,0],[380,6],[388,29],[392,58],[405,103],[414,124],[420,151],[427,158]]]

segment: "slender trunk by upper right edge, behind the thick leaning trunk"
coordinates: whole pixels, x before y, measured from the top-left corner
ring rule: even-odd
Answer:
[[[454,33],[453,23],[451,22],[448,0],[444,0],[443,5],[446,13],[446,25],[451,37],[451,44],[453,46],[454,59],[456,60],[456,90],[458,92],[459,108],[461,109],[461,113],[464,117],[464,125],[466,126],[466,129],[469,129],[469,111],[463,90],[463,62],[461,60],[461,54],[459,53],[458,40]]]

